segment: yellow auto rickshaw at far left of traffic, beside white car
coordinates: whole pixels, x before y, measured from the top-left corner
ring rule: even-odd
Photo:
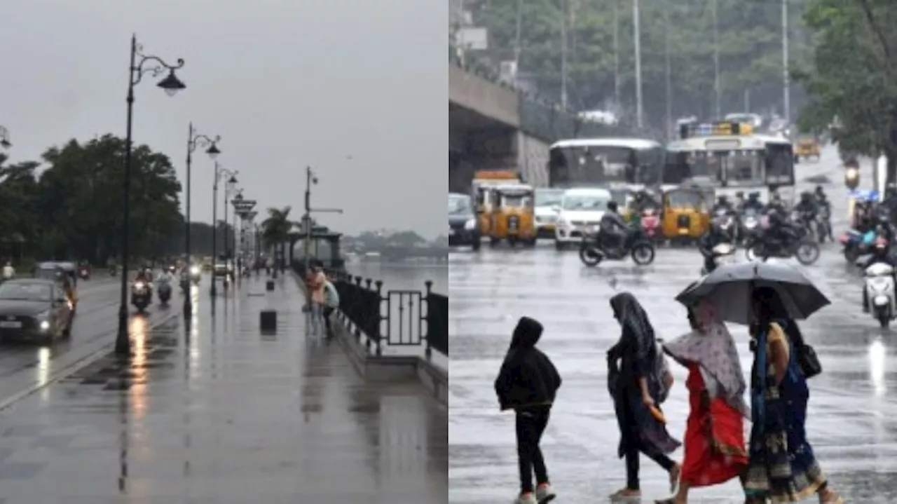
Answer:
[[[536,246],[536,197],[527,184],[501,185],[491,188],[492,222],[489,245],[495,247],[502,239],[511,247],[523,243]]]

